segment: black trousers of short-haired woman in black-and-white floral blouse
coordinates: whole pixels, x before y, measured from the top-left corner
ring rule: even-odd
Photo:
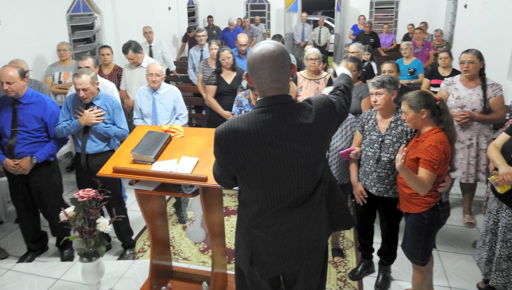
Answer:
[[[396,259],[398,248],[398,231],[403,213],[398,210],[398,197],[380,197],[368,193],[367,203],[356,205],[357,216],[357,239],[359,241],[359,252],[362,259],[373,258],[373,224],[376,214],[379,214],[380,236],[382,243],[377,255],[380,258],[379,264],[383,266],[392,265]]]

